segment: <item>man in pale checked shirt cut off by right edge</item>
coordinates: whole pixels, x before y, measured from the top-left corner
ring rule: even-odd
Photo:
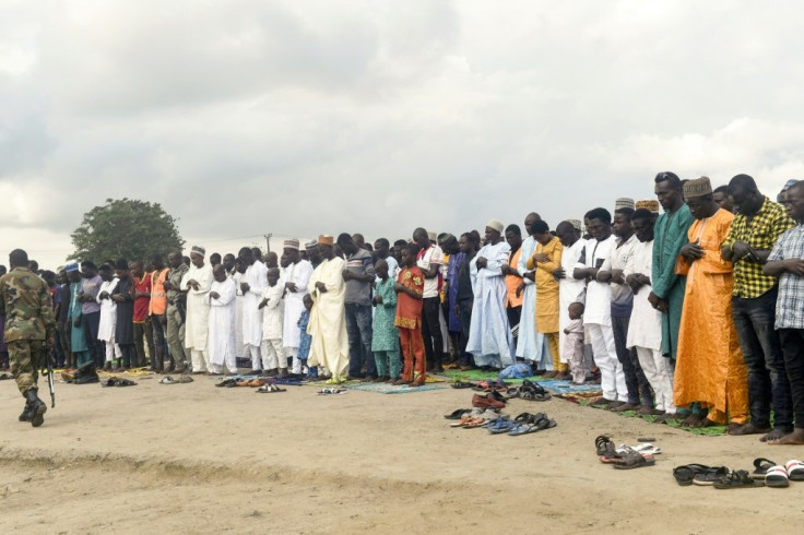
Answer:
[[[779,277],[776,328],[793,399],[793,432],[769,440],[771,444],[804,444],[804,181],[784,194],[784,206],[799,225],[779,238],[764,272]]]

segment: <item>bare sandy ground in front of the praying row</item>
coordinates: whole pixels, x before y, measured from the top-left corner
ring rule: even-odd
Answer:
[[[38,429],[0,382],[0,533],[801,533],[804,483],[679,487],[674,466],[749,468],[804,449],[697,437],[552,400],[558,427],[522,437],[452,429],[471,391],[402,395],[312,387],[279,394],[137,378],[57,384]],[[593,441],[655,438],[655,466],[616,471]],[[794,524],[795,522],[795,524]]]

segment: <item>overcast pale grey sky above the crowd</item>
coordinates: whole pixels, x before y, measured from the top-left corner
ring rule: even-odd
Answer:
[[[800,2],[0,0],[0,262],[107,198],[189,245],[554,226],[804,178]],[[146,237],[143,237],[145,239]],[[233,239],[235,238],[235,239]],[[236,252],[236,251],[235,251]]]

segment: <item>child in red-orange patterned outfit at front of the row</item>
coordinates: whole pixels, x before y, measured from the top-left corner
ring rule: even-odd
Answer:
[[[424,295],[424,274],[416,266],[418,248],[409,243],[402,249],[402,271],[393,289],[397,292],[397,317],[393,324],[399,328],[402,354],[405,365],[402,377],[393,384],[411,383],[421,387],[426,380],[424,341],[422,340],[422,296]],[[418,372],[418,378],[414,376]]]

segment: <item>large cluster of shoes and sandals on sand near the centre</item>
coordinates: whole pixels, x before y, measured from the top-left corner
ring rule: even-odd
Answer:
[[[485,427],[492,435],[506,433],[518,437],[552,429],[557,425],[545,413],[521,413],[515,418],[507,414],[500,414],[500,409],[505,408],[508,401],[515,397],[530,401],[547,401],[551,399],[549,393],[542,385],[527,379],[521,387],[510,387],[498,379],[497,381],[481,381],[480,383],[458,382],[452,388],[472,388],[473,390],[484,391],[485,395],[474,394],[472,396],[472,406],[475,407],[473,409],[459,408],[445,415],[445,418],[456,420],[450,424],[450,427],[462,427],[464,429]],[[505,392],[505,394],[501,392]]]

